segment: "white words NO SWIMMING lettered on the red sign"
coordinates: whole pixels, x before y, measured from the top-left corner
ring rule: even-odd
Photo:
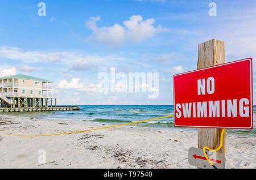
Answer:
[[[205,79],[197,80],[197,95],[205,95]],[[202,83],[203,82],[203,83]],[[214,78],[207,79],[207,93],[214,93]],[[189,102],[175,105],[176,118],[215,118],[215,117],[249,117],[249,100],[241,98],[240,100],[217,100],[203,102]],[[226,113],[227,112],[227,113]]]

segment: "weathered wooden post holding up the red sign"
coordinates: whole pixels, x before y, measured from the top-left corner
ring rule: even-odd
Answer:
[[[210,40],[199,44],[197,69],[225,63],[224,41]],[[220,145],[221,128],[199,128],[198,147],[216,149]],[[225,132],[222,148],[218,151],[225,155]]]

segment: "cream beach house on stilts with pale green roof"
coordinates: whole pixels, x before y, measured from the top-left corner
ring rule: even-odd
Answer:
[[[0,78],[1,108],[48,108],[57,106],[53,82],[27,75]]]

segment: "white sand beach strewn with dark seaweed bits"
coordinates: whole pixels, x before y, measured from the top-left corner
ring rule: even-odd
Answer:
[[[43,135],[105,127],[102,123],[64,122],[0,116],[0,131]],[[256,168],[256,138],[226,136],[226,168]],[[0,168],[196,168],[188,164],[197,132],[121,126],[77,134],[18,137],[0,134]],[[39,150],[46,163],[39,163]]]

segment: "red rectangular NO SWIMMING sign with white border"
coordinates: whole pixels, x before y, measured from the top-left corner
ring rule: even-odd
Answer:
[[[174,75],[176,127],[253,128],[253,59]]]

